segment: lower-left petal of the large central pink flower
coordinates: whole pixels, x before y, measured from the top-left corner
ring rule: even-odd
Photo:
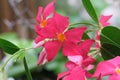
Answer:
[[[47,42],[44,47],[47,52],[47,60],[51,61],[56,56],[60,49],[61,43],[58,41]]]

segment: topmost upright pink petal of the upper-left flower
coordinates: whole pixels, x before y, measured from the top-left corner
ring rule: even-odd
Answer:
[[[44,9],[43,17],[46,19],[54,11],[54,1],[50,2]]]

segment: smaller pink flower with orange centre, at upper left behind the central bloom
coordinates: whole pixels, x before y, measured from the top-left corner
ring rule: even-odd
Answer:
[[[44,39],[48,36],[42,36],[42,34],[47,33],[51,34],[51,26],[54,26],[53,24],[53,17],[50,17],[52,14],[54,14],[54,3],[55,0],[53,0],[51,3],[49,3],[43,11],[43,7],[38,8],[38,14],[36,17],[37,24],[35,25],[35,31],[38,34],[38,37],[41,37],[41,39]],[[36,41],[37,43],[37,41]]]

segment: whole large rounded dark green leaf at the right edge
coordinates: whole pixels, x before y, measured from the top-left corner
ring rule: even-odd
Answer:
[[[120,56],[120,29],[108,26],[100,35],[101,53],[105,60]]]

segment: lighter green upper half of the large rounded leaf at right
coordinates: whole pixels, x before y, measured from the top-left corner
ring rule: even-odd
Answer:
[[[103,28],[100,35],[101,44],[108,43],[120,48],[120,29],[108,26]]]

